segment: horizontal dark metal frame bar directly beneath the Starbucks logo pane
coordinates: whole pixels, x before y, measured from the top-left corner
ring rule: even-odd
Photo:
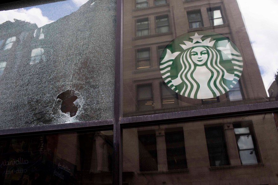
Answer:
[[[154,123],[165,123],[170,121],[181,121],[181,120],[194,120],[203,118],[214,118],[223,116],[237,116],[242,114],[256,114],[256,113],[267,113],[278,111],[278,101],[256,103],[248,105],[236,105],[229,107],[219,107],[211,109],[199,109],[183,112],[174,113],[162,113],[153,115],[144,115],[136,117],[124,117],[120,120],[121,127],[134,126],[141,124],[154,124]]]

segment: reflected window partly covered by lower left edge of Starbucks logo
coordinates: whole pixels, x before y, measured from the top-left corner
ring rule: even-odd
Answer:
[[[178,94],[170,89],[165,82],[160,84],[161,97],[162,97],[162,107],[170,108],[179,105]]]

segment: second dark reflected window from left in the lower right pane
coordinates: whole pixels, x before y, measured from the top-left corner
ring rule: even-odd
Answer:
[[[187,168],[183,127],[165,130],[168,170]]]

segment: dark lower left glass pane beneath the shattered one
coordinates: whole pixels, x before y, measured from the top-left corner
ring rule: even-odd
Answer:
[[[111,184],[113,131],[0,139],[1,184]]]

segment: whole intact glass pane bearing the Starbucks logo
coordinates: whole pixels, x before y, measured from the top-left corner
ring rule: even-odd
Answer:
[[[135,2],[123,0],[123,117],[278,100],[275,3],[266,3],[269,12],[243,0],[148,1],[141,10]],[[150,48],[150,58],[139,62],[141,48]],[[162,82],[178,96],[164,98]],[[145,112],[137,108],[140,84],[152,84],[152,109]],[[175,106],[166,106],[170,100]]]

